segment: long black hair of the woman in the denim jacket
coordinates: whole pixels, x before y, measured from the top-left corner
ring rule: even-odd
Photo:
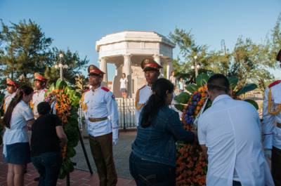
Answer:
[[[165,105],[166,91],[168,93],[174,91],[174,85],[168,79],[160,78],[152,84],[152,95],[150,95],[141,113],[141,126],[143,128],[151,125],[152,119],[155,118],[159,109]]]

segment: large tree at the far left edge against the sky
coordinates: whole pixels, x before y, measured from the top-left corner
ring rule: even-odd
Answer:
[[[51,64],[52,39],[32,20],[11,22],[11,26],[1,20],[0,39],[1,77],[17,79],[21,74],[31,77],[34,72],[44,72],[44,67]]]

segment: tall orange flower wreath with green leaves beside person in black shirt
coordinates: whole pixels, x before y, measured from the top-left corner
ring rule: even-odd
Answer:
[[[73,91],[65,81],[58,80],[55,86],[52,84],[46,92],[46,102],[49,102],[55,114],[63,122],[63,129],[67,135],[67,145],[62,149],[63,164],[60,168],[60,179],[74,170],[74,163],[70,158],[76,154],[74,147],[79,141],[78,107],[79,94]]]

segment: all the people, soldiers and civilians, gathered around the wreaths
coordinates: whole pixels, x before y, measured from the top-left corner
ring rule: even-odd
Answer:
[[[281,60],[281,50],[277,60]],[[137,134],[129,157],[136,185],[176,185],[176,142],[201,145],[208,159],[209,186],[281,185],[281,81],[266,88],[261,123],[252,105],[230,97],[228,79],[214,74],[207,81],[211,107],[200,115],[197,131],[185,131],[178,112],[170,107],[177,84],[174,72],[169,80],[158,78],[162,66],[151,58],[144,59],[141,68],[147,84],[136,92]],[[91,88],[82,95],[81,108],[91,154],[100,186],[113,186],[117,185],[112,153],[112,145],[119,139],[117,102],[113,93],[101,86],[105,73],[94,65],[88,67],[88,73]],[[39,172],[39,185],[56,185],[63,161],[60,150],[67,135],[44,102],[46,81],[34,74],[35,91],[11,79],[6,81],[3,154],[8,186],[24,185],[30,161]],[[120,91],[124,98],[126,81],[123,74]],[[183,79],[179,82],[183,91],[185,83]]]

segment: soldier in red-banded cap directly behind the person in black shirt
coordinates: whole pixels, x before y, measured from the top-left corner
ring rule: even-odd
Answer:
[[[37,105],[45,100],[45,93],[47,91],[45,88],[46,82],[47,79],[45,77],[39,73],[34,73],[34,93],[30,102],[30,106],[32,107],[35,119],[39,117]]]

